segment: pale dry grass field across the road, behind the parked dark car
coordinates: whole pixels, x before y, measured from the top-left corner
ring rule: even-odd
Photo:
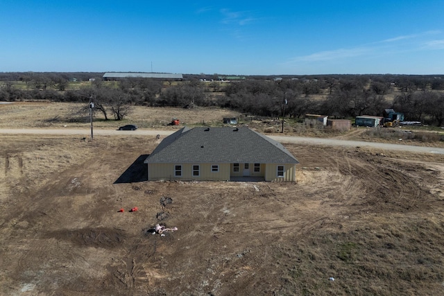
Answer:
[[[89,113],[81,113],[80,110],[88,105],[51,102],[0,104],[0,128],[87,128]],[[169,128],[166,125],[173,117],[180,119],[182,125],[221,125],[223,117],[238,117],[239,113],[219,108],[133,107],[123,121],[114,121],[111,113],[108,116],[110,120],[105,121],[97,112],[93,119],[94,127],[118,128],[119,125],[133,123],[139,128]]]

